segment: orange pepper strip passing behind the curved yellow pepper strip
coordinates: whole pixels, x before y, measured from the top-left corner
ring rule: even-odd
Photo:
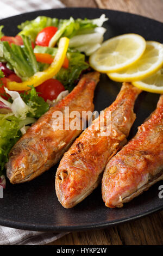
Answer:
[[[54,57],[51,54],[48,53],[35,53],[35,57],[37,62],[42,62],[42,63],[47,63],[47,64],[52,64]],[[67,69],[68,68],[68,58],[65,57],[64,63],[62,66]]]

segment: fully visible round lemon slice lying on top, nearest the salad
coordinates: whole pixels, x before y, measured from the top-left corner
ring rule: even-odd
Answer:
[[[90,56],[90,65],[99,72],[122,70],[138,60],[146,48],[146,41],[137,34],[111,38]]]

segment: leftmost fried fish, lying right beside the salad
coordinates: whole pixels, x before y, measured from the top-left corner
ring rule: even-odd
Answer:
[[[73,91],[42,115],[14,145],[7,163],[7,176],[12,184],[32,180],[60,160],[82,132],[82,127],[81,130],[54,130],[53,114],[60,111],[65,117],[65,107],[69,107],[70,113],[93,111],[93,95],[98,81],[98,72],[84,75]]]

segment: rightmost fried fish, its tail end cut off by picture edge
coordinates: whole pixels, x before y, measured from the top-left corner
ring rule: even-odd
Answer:
[[[151,117],[107,164],[102,195],[110,208],[122,207],[163,179],[163,95]]]

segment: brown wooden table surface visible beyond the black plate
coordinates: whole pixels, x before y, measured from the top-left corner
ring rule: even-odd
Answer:
[[[61,0],[61,2],[67,7],[127,11],[163,22],[163,0]],[[72,232],[49,245],[162,245],[162,223],[163,211],[116,227]]]

